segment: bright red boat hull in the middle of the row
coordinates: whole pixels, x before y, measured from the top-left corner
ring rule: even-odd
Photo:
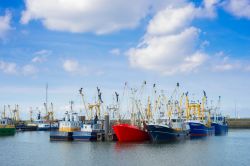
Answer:
[[[113,130],[120,142],[140,142],[149,140],[149,134],[129,124],[114,125]]]

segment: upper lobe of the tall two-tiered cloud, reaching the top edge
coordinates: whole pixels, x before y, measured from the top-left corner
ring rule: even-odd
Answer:
[[[194,18],[214,18],[218,0],[204,0],[203,7],[195,7],[192,3],[182,6],[167,6],[158,12],[150,21],[147,33],[162,35],[176,33],[189,26]]]

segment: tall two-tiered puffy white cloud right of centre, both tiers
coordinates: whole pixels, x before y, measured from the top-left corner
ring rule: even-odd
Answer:
[[[208,55],[198,48],[202,46],[200,29],[191,23],[195,18],[214,17],[211,11],[216,2],[207,1],[204,7],[192,3],[168,6],[159,11],[149,22],[142,42],[127,52],[131,66],[167,75],[195,71]]]

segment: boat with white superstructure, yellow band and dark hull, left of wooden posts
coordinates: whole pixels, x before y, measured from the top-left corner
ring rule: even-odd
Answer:
[[[64,118],[59,122],[59,130],[50,132],[51,141],[72,141],[73,132],[80,131],[82,122],[78,118],[78,114],[73,112],[66,112]]]

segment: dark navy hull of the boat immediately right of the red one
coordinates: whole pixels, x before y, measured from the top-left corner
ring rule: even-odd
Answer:
[[[168,126],[147,125],[147,130],[152,142],[177,141],[189,137],[188,130],[175,130]]]

